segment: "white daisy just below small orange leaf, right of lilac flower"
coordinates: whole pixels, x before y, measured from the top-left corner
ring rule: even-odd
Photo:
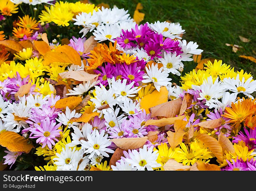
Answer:
[[[58,118],[56,118],[56,120],[60,123],[62,123],[63,125],[67,125],[68,128],[70,127],[75,127],[76,125],[78,125],[78,122],[71,122],[70,119],[72,117],[80,117],[82,114],[81,113],[76,113],[76,110],[74,109],[72,112],[70,111],[70,108],[67,106],[66,107],[66,111],[65,114],[64,113],[59,113],[58,114]]]

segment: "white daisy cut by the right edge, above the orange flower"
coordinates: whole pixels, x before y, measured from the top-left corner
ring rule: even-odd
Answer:
[[[256,80],[253,80],[253,76],[245,80],[242,78],[242,81],[239,79],[239,74],[237,74],[236,78],[224,78],[222,80],[223,88],[230,90],[235,93],[242,93],[253,99],[253,96],[250,95],[256,91]]]

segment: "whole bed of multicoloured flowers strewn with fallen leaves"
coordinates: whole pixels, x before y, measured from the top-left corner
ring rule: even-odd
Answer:
[[[256,169],[253,76],[196,65],[179,23],[80,1],[0,13],[2,169]]]

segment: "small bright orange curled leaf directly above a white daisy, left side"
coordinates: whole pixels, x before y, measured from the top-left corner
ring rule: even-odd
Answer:
[[[66,109],[66,107],[68,107],[70,108],[70,110],[73,110],[81,102],[82,102],[81,97],[70,96],[70,97],[62,98],[56,101],[55,108]]]

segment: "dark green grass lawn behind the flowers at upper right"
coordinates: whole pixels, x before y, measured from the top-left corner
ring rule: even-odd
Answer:
[[[223,63],[251,72],[256,76],[256,63],[240,58],[239,55],[256,58],[256,1],[241,0],[209,0],[209,1],[125,1],[125,0],[91,0],[91,3],[108,3],[112,8],[129,10],[133,17],[137,3],[142,3],[145,22],[154,23],[170,20],[179,22],[185,29],[183,39],[197,42],[203,49],[203,58],[216,58]],[[248,38],[250,42],[242,42],[239,35]],[[225,43],[242,46],[236,53]]]

